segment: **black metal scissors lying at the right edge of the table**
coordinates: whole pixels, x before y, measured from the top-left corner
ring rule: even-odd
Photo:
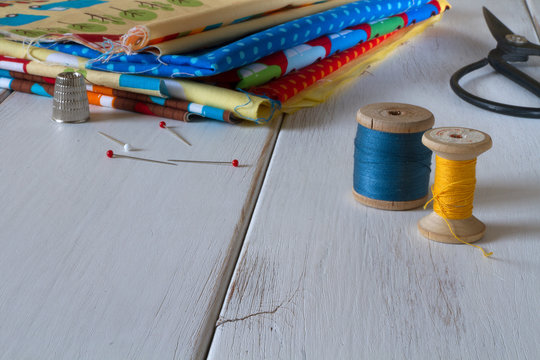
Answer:
[[[511,62],[525,62],[529,60],[529,56],[540,56],[540,45],[529,42],[524,36],[514,34],[485,7],[483,7],[483,12],[489,31],[497,40],[497,47],[489,52],[487,58],[456,71],[450,78],[450,87],[457,96],[482,109],[510,116],[540,118],[540,108],[502,104],[483,99],[469,93],[459,85],[459,80],[463,76],[489,64],[495,71],[540,97],[540,83],[510,65]]]

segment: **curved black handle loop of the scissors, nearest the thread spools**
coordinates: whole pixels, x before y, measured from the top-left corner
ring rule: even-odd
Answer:
[[[489,64],[488,59],[484,58],[480,61],[464,66],[458,71],[456,71],[454,75],[452,75],[452,77],[450,78],[450,87],[452,88],[452,90],[454,90],[456,95],[470,104],[499,114],[525,118],[540,118],[540,108],[502,104],[495,101],[487,100],[471,94],[470,92],[463,89],[461,85],[459,85],[459,80],[461,80],[462,77],[475,70],[483,68],[487,64]]]

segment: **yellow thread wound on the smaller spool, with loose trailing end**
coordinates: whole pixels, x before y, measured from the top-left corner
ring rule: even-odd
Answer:
[[[450,225],[450,220],[467,219],[472,216],[474,188],[476,186],[476,159],[454,161],[435,156],[435,183],[431,187],[433,211],[448,225],[450,232],[460,242],[480,249],[485,257],[493,255],[482,247],[459,238]]]

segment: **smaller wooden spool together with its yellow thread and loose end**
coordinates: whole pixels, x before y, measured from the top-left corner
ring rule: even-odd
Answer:
[[[484,223],[472,215],[472,202],[476,157],[491,148],[491,138],[473,129],[436,128],[424,133],[422,143],[437,157],[434,211],[420,219],[418,230],[430,240],[471,245],[486,231]],[[490,255],[478,248],[485,256]]]

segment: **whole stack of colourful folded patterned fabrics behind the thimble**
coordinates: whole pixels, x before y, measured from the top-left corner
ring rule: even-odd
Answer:
[[[36,0],[0,6],[0,88],[182,121],[313,106],[440,19],[446,0]]]

